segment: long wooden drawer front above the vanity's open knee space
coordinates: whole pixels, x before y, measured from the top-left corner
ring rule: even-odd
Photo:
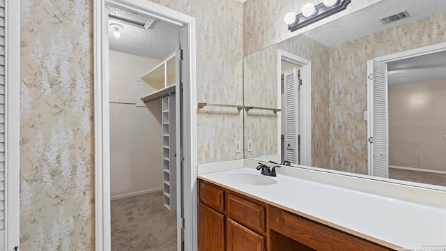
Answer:
[[[270,206],[269,219],[270,229],[315,250],[392,250],[275,206]]]

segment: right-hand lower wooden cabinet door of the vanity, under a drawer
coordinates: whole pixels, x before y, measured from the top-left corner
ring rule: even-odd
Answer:
[[[265,237],[243,227],[237,222],[226,220],[227,251],[264,251]]]

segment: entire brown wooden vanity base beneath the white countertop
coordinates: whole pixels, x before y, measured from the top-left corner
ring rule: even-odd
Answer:
[[[199,250],[394,250],[199,180]]]

